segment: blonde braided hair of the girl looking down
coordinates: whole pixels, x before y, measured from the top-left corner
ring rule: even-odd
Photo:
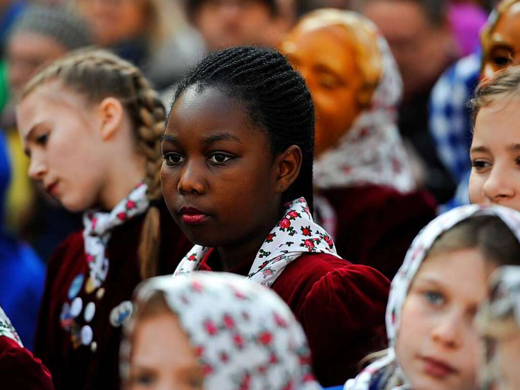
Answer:
[[[143,279],[158,271],[160,246],[161,137],[165,108],[140,70],[131,63],[99,49],[81,49],[63,57],[35,75],[25,86],[22,98],[35,88],[58,80],[82,94],[88,102],[99,103],[107,97],[121,101],[132,119],[139,152],[146,157],[146,178],[150,208],[145,216],[139,243],[140,272]]]

